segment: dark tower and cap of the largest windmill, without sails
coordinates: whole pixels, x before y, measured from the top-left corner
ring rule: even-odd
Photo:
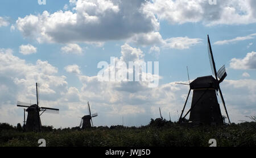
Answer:
[[[203,124],[223,124],[216,91],[218,81],[212,76],[198,77],[191,82],[193,97],[189,121]]]

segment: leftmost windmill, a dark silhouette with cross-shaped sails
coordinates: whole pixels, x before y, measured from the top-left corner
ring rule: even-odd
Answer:
[[[43,113],[59,113],[59,109],[49,108],[49,107],[39,107],[39,84],[36,83],[36,104],[31,105],[31,103],[17,102],[17,106],[26,107],[24,109],[24,130],[26,131],[41,131],[41,119],[40,115]],[[42,113],[40,114],[40,112]],[[27,121],[25,112],[27,112]]]

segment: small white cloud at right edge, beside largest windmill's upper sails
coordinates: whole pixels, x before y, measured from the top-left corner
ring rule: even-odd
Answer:
[[[256,52],[247,53],[243,59],[233,58],[230,61],[230,68],[232,69],[256,69]]]

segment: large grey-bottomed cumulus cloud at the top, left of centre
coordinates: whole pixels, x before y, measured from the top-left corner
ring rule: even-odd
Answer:
[[[18,18],[16,26],[26,38],[57,43],[127,39],[159,28],[154,14],[143,10],[143,0],[71,3],[75,4],[72,11],[27,15]]]

